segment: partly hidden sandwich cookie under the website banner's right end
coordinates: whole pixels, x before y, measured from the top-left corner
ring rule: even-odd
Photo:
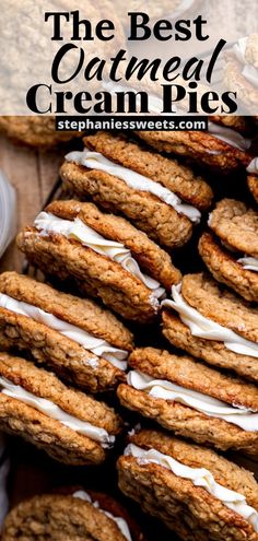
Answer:
[[[251,140],[221,121],[209,121],[208,131],[138,131],[138,136],[160,152],[187,156],[225,173],[247,167],[251,161]]]

